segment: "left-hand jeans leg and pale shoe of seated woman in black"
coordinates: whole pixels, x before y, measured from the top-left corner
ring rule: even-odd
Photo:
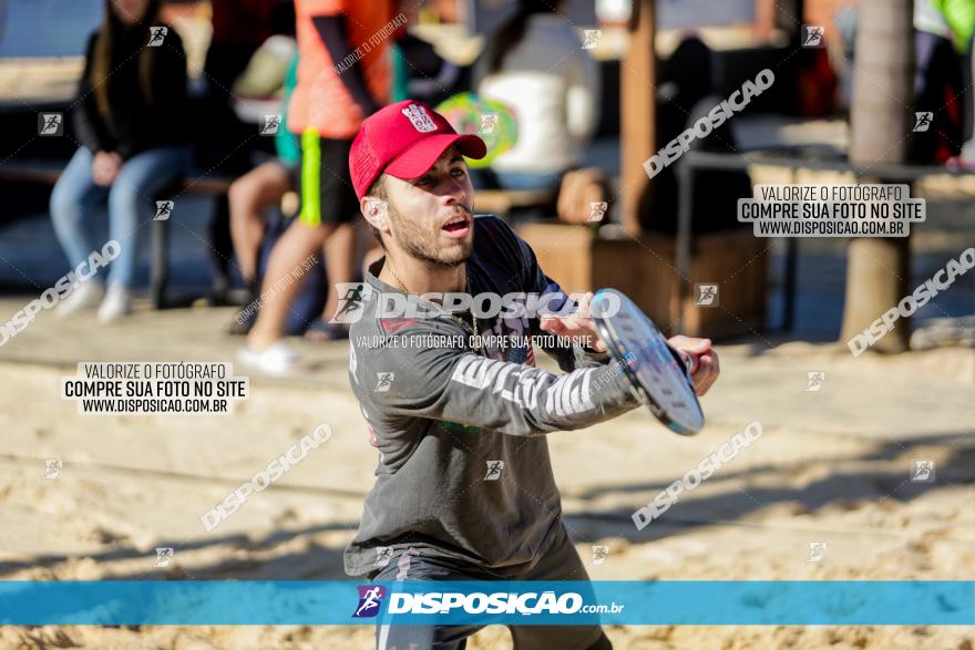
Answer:
[[[101,250],[104,244],[96,244],[90,233],[92,217],[104,208],[109,196],[109,188],[95,185],[92,178],[93,159],[90,151],[79,148],[51,192],[51,221],[72,269],[93,250]],[[57,313],[63,318],[79,309],[95,307],[103,293],[103,278],[82,281],[58,306]]]

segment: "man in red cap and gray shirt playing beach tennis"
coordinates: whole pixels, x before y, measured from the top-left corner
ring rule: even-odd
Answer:
[[[473,217],[464,156],[484,154],[481,138],[458,135],[413,101],[373,114],[352,143],[356,194],[386,257],[369,269],[350,332],[349,376],[379,450],[377,482],[345,554],[351,576],[588,579],[562,520],[544,434],[583,429],[640,402],[608,365],[586,299],[565,317],[488,316],[481,296],[561,290],[504,221]],[[473,309],[447,313],[451,302],[434,292],[478,299]],[[391,311],[397,303],[413,312]],[[587,344],[566,344],[572,340]],[[565,374],[535,368],[532,341]],[[698,357],[692,380],[704,394],[718,376],[710,341],[670,343]],[[380,619],[377,643],[463,648],[478,629]],[[511,631],[517,649],[610,648],[598,625]]]

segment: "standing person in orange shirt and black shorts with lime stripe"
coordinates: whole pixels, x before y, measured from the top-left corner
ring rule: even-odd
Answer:
[[[298,362],[284,341],[291,300],[300,282],[281,282],[304,259],[325,249],[329,295],[308,338],[338,339],[347,330],[328,322],[338,305],[336,285],[350,282],[355,265],[352,221],[359,200],[349,174],[349,148],[362,121],[389,97],[388,48],[392,3],[387,0],[296,0],[298,84],[288,104],[288,130],[301,135],[301,214],[278,240],[263,287],[285,285],[261,305],[240,351],[243,363],[286,373]]]

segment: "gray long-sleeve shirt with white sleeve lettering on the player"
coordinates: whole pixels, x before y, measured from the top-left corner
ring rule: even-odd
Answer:
[[[553,345],[537,318],[479,319],[482,337],[513,337],[480,350],[450,316],[383,318],[378,292],[402,296],[376,277],[383,261],[367,275],[350,331],[349,378],[379,464],[346,572],[367,574],[414,547],[504,577],[535,558],[562,513],[544,434],[609,420],[639,402],[606,354]],[[493,216],[474,219],[468,278],[474,296],[558,290],[528,245]],[[460,321],[469,323],[469,312]],[[533,367],[532,336],[565,374]],[[433,339],[463,344],[413,344]]]

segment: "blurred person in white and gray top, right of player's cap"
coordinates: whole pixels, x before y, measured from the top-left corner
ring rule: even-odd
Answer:
[[[504,189],[556,188],[596,127],[599,69],[561,6],[519,0],[475,65],[478,94],[517,117],[517,143],[491,166]]]

